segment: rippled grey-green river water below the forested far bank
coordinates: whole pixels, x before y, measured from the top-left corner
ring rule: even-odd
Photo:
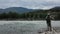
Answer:
[[[59,27],[60,21],[52,21],[53,27]],[[0,34],[38,34],[47,28],[46,21],[0,21]]]

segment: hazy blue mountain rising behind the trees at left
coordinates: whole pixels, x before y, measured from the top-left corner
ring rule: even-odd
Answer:
[[[31,12],[33,9],[27,9],[23,7],[10,7],[6,9],[0,9],[0,13],[4,12],[17,12],[17,13],[25,13],[25,12]]]

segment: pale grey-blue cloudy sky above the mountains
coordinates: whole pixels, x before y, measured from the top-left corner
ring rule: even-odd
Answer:
[[[0,0],[0,8],[25,7],[29,9],[50,9],[60,6],[60,0]]]

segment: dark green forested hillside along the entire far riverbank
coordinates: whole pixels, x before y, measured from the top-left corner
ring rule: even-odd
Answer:
[[[54,20],[60,20],[60,7],[54,7],[49,10],[38,9],[25,13],[4,12],[0,14],[0,20],[45,20],[48,12],[54,13]]]

